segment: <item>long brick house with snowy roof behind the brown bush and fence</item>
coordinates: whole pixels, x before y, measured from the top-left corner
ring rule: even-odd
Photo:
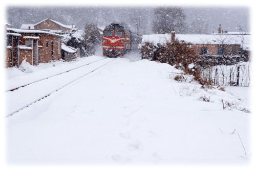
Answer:
[[[221,30],[221,29],[219,29]],[[250,54],[249,34],[223,31],[217,34],[159,34],[143,35],[142,42],[164,44],[174,40],[190,43],[203,63],[233,64],[248,61]]]

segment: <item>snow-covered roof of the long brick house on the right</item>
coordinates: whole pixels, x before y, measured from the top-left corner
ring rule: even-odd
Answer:
[[[193,44],[250,44],[251,39],[250,35],[228,34],[176,34],[175,38]],[[170,34],[143,35],[142,42],[166,43],[170,39]]]

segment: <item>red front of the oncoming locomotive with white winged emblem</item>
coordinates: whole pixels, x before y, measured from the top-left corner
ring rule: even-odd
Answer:
[[[103,56],[122,57],[131,44],[131,35],[122,26],[112,23],[103,30]]]

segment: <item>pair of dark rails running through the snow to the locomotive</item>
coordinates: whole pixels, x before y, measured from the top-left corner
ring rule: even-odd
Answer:
[[[106,59],[110,59],[110,58],[106,58]],[[15,114],[15,113],[17,113],[17,112],[19,112],[19,111],[21,111],[21,110],[23,110],[23,109],[29,107],[30,105],[32,105],[32,104],[34,104],[34,103],[36,103],[36,102],[38,102],[38,101],[40,101],[40,100],[42,100],[42,99],[45,99],[46,97],[48,97],[48,96],[51,95],[52,93],[57,92],[58,90],[60,90],[60,89],[62,89],[62,88],[64,88],[64,87],[70,85],[71,83],[73,83],[73,82],[75,82],[75,81],[77,81],[77,80],[83,78],[84,76],[87,76],[87,75],[91,74],[92,72],[94,72],[94,71],[96,71],[96,70],[102,68],[102,67],[105,66],[105,65],[108,65],[109,63],[111,63],[111,62],[113,62],[113,61],[115,61],[115,60],[117,60],[117,59],[111,59],[111,60],[108,61],[108,62],[104,62],[103,64],[100,64],[100,65],[98,65],[98,66],[96,66],[96,67],[93,67],[92,69],[90,69],[89,71],[87,71],[86,74],[82,74],[82,75],[80,75],[79,77],[77,77],[77,78],[75,78],[75,79],[72,79],[71,81],[69,80],[69,81],[66,82],[65,84],[62,84],[61,86],[58,86],[57,88],[54,88],[53,90],[51,90],[51,91],[49,91],[49,92],[47,92],[47,93],[44,93],[43,95],[40,95],[39,97],[37,97],[37,99],[32,100],[32,101],[30,101],[29,103],[26,103],[26,105],[22,105],[22,106],[20,106],[18,109],[15,109],[15,110],[9,112],[6,117],[12,116],[13,114]],[[99,61],[99,60],[98,60],[98,61]],[[95,61],[95,62],[96,62],[96,61]],[[82,67],[82,66],[80,66],[80,67]],[[77,67],[77,68],[79,68],[79,67]],[[74,69],[74,68],[73,68],[73,69]],[[65,71],[65,72],[67,72],[67,71]],[[63,73],[65,73],[65,72],[61,72],[61,73],[63,74]],[[60,74],[58,74],[58,75],[60,75]],[[57,75],[56,75],[56,76],[57,76]],[[54,76],[51,76],[51,77],[54,77]],[[49,77],[48,77],[48,78],[49,78]],[[46,80],[46,79],[47,79],[47,78],[45,78],[44,80]],[[42,80],[43,80],[43,79],[41,79],[40,81],[42,81]],[[37,82],[39,82],[39,81],[37,81]],[[35,83],[35,82],[34,82],[34,83]],[[31,85],[31,84],[28,84],[28,85]],[[27,85],[26,85],[26,86],[27,86]],[[22,86],[20,86],[20,87],[22,87]],[[29,90],[30,90],[30,89],[28,89],[28,91],[29,91]],[[19,90],[19,91],[21,91],[21,90]],[[13,93],[13,91],[11,91],[10,93]]]

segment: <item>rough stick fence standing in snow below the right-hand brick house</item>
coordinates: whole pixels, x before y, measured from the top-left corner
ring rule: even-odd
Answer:
[[[206,80],[211,80],[213,85],[247,87],[250,85],[249,62],[202,68],[201,77]]]

